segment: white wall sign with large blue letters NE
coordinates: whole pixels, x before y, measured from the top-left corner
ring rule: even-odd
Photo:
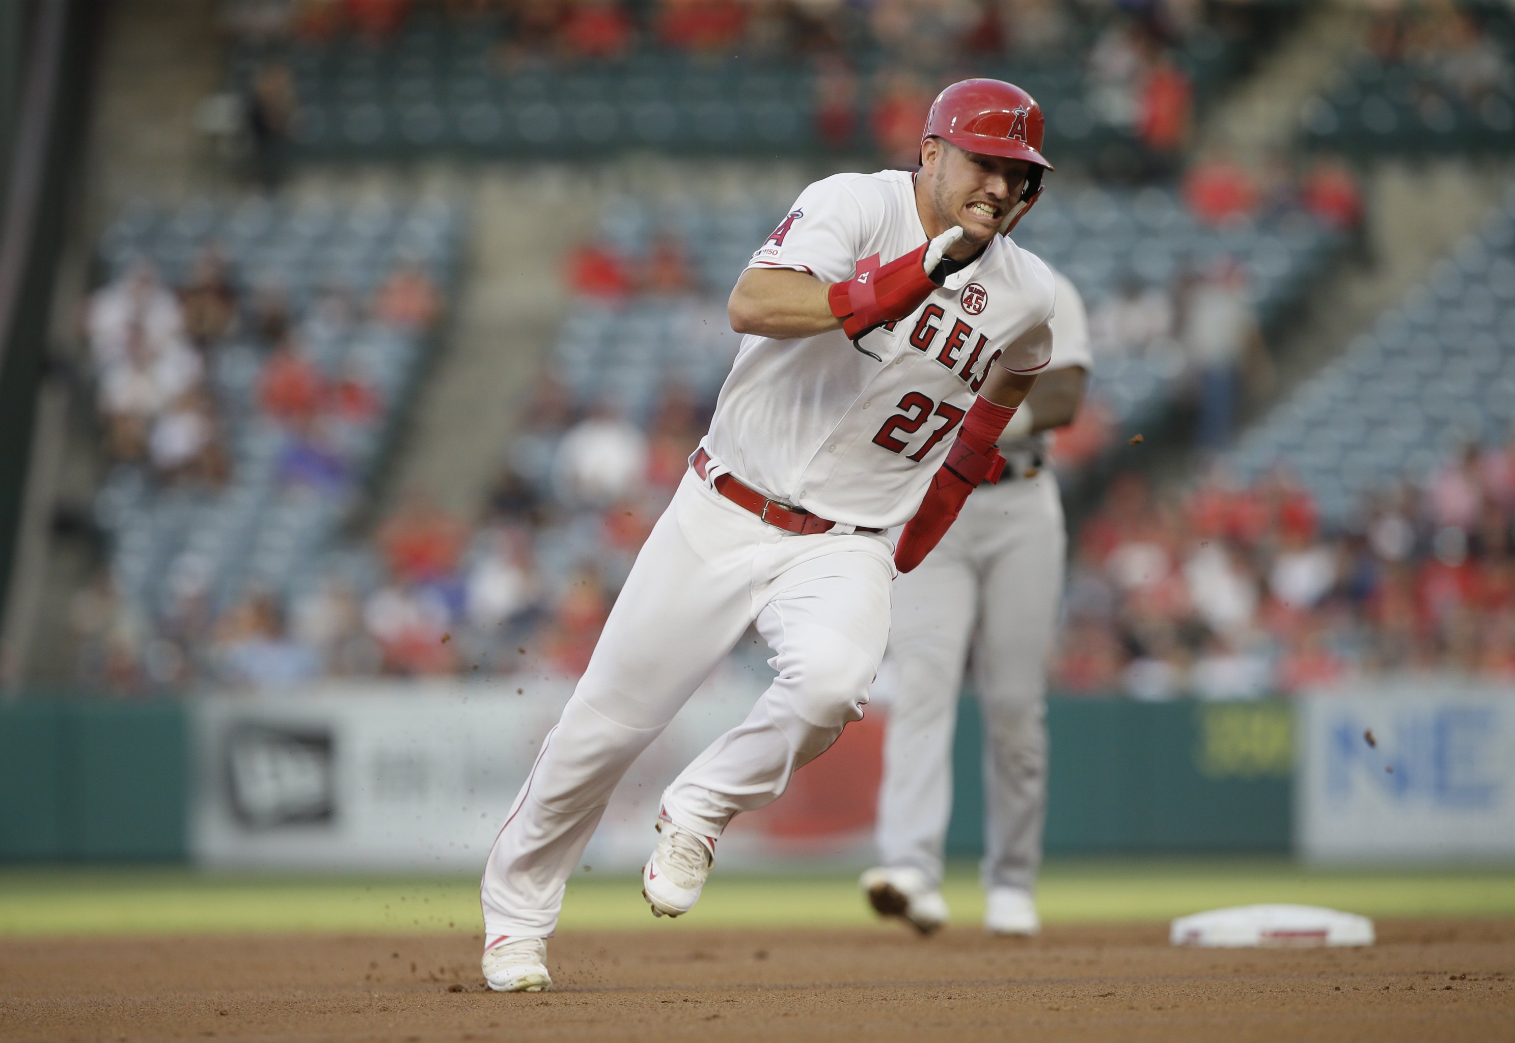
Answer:
[[[1515,690],[1430,678],[1333,690],[1298,709],[1301,855],[1515,858]]]

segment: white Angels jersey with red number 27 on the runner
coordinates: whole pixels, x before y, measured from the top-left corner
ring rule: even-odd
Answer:
[[[927,241],[903,170],[836,174],[806,188],[748,267],[823,282]],[[1051,318],[1051,271],[1006,236],[947,276],[907,318],[861,347],[841,330],[798,340],[747,335],[717,400],[704,449],[767,496],[833,522],[886,529],[920,506],[989,365],[1036,373],[1047,349],[1001,359]]]

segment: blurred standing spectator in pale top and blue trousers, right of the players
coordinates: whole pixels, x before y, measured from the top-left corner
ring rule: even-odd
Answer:
[[[1221,449],[1232,435],[1242,397],[1260,391],[1271,370],[1247,290],[1247,273],[1235,258],[1221,258],[1194,282],[1182,309],[1182,343],[1198,374],[1195,441]]]

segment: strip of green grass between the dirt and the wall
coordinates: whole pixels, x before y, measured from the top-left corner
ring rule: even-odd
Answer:
[[[636,873],[580,875],[562,931],[665,928]],[[959,923],[983,913],[971,866],[945,884]],[[1373,917],[1515,916],[1515,870],[1320,870],[1285,860],[1089,860],[1047,866],[1048,923],[1167,920],[1248,902],[1329,905]],[[867,926],[847,876],[717,875],[689,926]],[[474,879],[350,879],[188,869],[0,869],[0,935],[462,931],[479,923]]]

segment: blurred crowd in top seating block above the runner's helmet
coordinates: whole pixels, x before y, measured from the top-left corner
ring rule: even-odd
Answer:
[[[1171,168],[1192,129],[1194,83],[1182,52],[1217,12],[1200,0],[230,0],[226,23],[247,41],[323,41],[348,33],[383,44],[417,12],[497,39],[492,65],[527,70],[632,55],[807,62],[814,130],[835,149],[876,143],[891,162],[915,158],[930,100],[995,59],[1080,68],[1086,83],[1070,133],[1095,124],[1145,146]],[[248,86],[250,133],[264,167],[295,112],[288,73],[270,64]],[[273,144],[270,144],[273,143]]]

